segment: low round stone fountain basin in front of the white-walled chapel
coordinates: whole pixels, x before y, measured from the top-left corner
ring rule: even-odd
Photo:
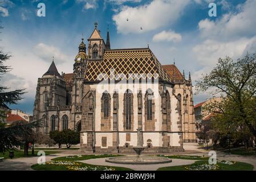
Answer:
[[[162,164],[162,163],[170,163],[172,159],[169,158],[161,158],[155,156],[123,156],[116,158],[109,158],[105,160],[109,163],[116,164]]]

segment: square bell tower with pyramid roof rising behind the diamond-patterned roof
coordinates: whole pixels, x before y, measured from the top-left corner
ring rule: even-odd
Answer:
[[[95,28],[92,35],[88,39],[88,59],[89,60],[101,60],[103,59],[103,53],[105,50],[104,39],[101,38],[100,31],[97,30],[97,23],[94,23]]]

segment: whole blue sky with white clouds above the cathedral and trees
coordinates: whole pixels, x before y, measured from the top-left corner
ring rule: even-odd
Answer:
[[[256,52],[254,0],[1,0],[0,19],[5,28],[0,48],[13,57],[13,70],[1,84],[26,88],[25,99],[14,109],[32,113],[38,77],[55,57],[58,71],[71,73],[82,34],[88,38],[99,24],[105,39],[107,26],[112,48],[149,47],[162,64],[173,59],[193,82],[207,73],[219,57],[241,57]],[[45,3],[46,17],[36,16]],[[208,15],[210,2],[217,17]],[[127,21],[128,18],[128,21]],[[143,30],[140,29],[143,28]],[[209,98],[194,96],[194,102]]]

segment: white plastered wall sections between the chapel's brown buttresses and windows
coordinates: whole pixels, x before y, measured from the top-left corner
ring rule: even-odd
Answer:
[[[104,88],[104,86],[106,86]],[[97,84],[97,85],[90,85],[92,90],[96,90],[96,101],[95,101],[95,138],[96,138],[96,147],[101,147],[101,148],[107,148],[111,147],[113,143],[113,133],[109,132],[102,132],[99,133],[101,130],[100,123],[101,123],[101,97],[104,92],[107,91],[107,93],[110,94],[111,96],[111,131],[113,130],[113,93],[115,93],[115,90],[118,90],[118,97],[119,97],[119,110],[118,110],[118,127],[119,127],[119,146],[124,146],[125,143],[129,143],[130,146],[136,146],[137,145],[137,133],[132,132],[129,133],[131,134],[131,141],[126,140],[126,132],[124,131],[124,126],[123,126],[123,112],[124,112],[124,93],[127,89],[130,89],[133,93],[133,116],[134,116],[134,125],[133,125],[133,131],[136,131],[138,125],[138,110],[137,110],[137,93],[139,93],[139,90],[141,90],[141,93],[143,94],[143,129],[144,129],[144,124],[145,124],[145,106],[144,106],[144,97],[145,93],[147,92],[148,88],[151,88],[153,90],[153,96],[155,100],[155,132],[144,132],[143,133],[143,146],[147,146],[148,139],[151,139],[153,147],[162,147],[163,141],[162,141],[162,134],[161,134],[161,129],[162,129],[162,112],[161,112],[161,96],[159,93],[159,84],[155,85],[147,85],[145,83],[142,84],[110,84],[110,85],[104,85],[104,84]],[[171,118],[171,129],[173,133],[168,133],[168,136],[170,137],[170,146],[181,146],[180,142],[180,135],[178,135],[178,132],[180,132],[180,129],[178,128],[177,121],[178,121],[178,111],[176,110],[177,107],[177,98],[172,94],[172,87],[171,86],[166,86],[166,90],[168,90],[170,94],[170,106],[171,106],[171,113],[170,113],[170,118]],[[83,133],[81,135],[83,138],[83,144],[86,144],[87,142],[87,133]],[[107,147],[102,147],[101,146],[101,138],[102,137],[107,137]]]

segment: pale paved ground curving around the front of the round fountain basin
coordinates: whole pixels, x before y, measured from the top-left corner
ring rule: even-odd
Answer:
[[[183,160],[183,159],[172,159],[171,163],[166,164],[114,164],[105,162],[105,159],[108,158],[99,158],[99,159],[88,159],[80,160],[79,162],[93,164],[97,166],[116,166],[116,167],[126,167],[136,171],[156,171],[160,167],[168,166],[182,166],[187,164],[193,164],[196,160]]]

